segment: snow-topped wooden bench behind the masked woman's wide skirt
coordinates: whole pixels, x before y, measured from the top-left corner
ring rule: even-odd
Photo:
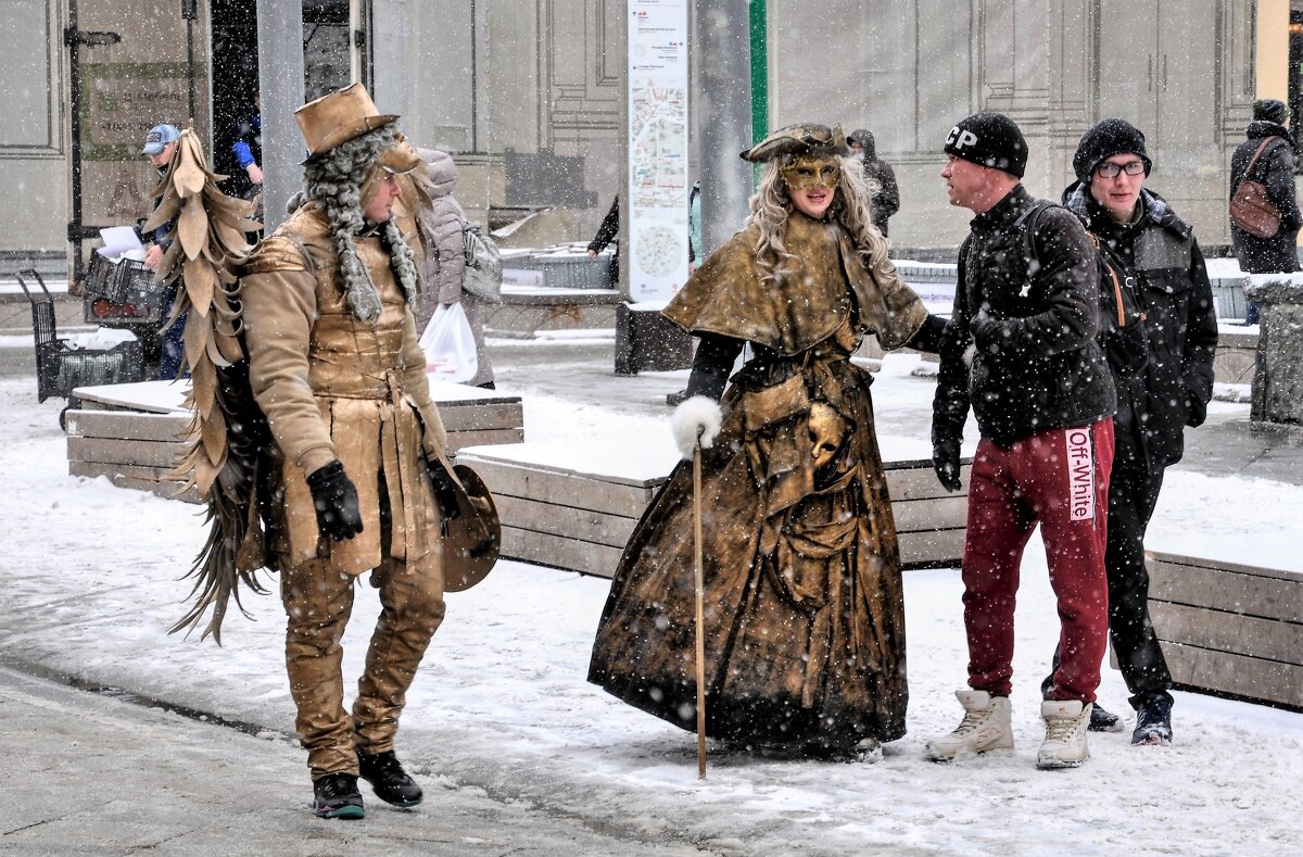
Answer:
[[[610,577],[633,527],[678,460],[653,445],[594,440],[473,447],[457,461],[474,468],[494,494],[502,555]],[[966,460],[967,465],[967,460]],[[930,460],[889,461],[900,556],[906,568],[958,567],[963,556],[966,494],[947,494]],[[968,466],[963,478],[967,485]]]

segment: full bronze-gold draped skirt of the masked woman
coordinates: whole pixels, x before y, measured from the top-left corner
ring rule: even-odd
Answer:
[[[831,752],[898,738],[904,600],[872,378],[837,354],[748,365],[734,382],[702,456],[706,732]],[[842,431],[817,462],[829,408]],[[693,568],[683,462],[624,550],[589,681],[684,729],[696,729]]]

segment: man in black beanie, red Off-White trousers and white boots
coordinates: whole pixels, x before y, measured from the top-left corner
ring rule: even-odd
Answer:
[[[1063,656],[1041,703],[1036,765],[1075,767],[1108,633],[1105,513],[1113,461],[1113,378],[1096,344],[1095,249],[1068,211],[1033,198],[1019,178],[1027,141],[1011,119],[977,113],[951,129],[941,177],[950,204],[976,216],[959,249],[933,402],[933,465],[959,491],[959,445],[972,405],[981,439],[968,483],[964,628],[969,690],[964,719],[925,754],[1014,746],[1014,602],[1019,564],[1037,524],[1058,599]]]

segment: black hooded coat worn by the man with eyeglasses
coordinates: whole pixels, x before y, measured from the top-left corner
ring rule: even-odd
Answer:
[[[1186,426],[1201,425],[1208,413],[1217,313],[1194,231],[1158,194],[1141,189],[1140,201],[1144,214],[1122,224],[1081,182],[1063,191],[1067,208],[1135,280],[1149,361],[1131,383],[1118,384],[1114,460],[1152,469],[1181,461]]]

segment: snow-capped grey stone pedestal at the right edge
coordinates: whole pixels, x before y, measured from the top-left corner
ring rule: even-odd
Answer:
[[[1303,274],[1253,274],[1244,297],[1261,305],[1250,418],[1303,426]]]

